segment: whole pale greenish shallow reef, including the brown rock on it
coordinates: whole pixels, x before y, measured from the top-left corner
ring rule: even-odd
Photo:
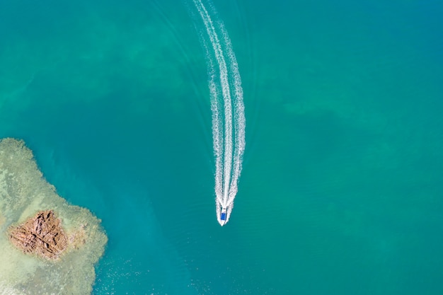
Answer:
[[[57,195],[23,141],[0,140],[0,294],[91,294],[107,241],[100,219]]]

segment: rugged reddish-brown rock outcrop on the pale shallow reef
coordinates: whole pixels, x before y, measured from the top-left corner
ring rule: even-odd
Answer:
[[[43,258],[55,260],[67,248],[60,219],[52,210],[38,212],[24,224],[11,229],[9,238],[13,245],[24,253],[33,253]]]

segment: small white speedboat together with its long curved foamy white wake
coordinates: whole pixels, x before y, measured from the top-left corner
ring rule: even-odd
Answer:
[[[221,226],[229,221],[238,190],[245,150],[245,111],[241,77],[231,40],[222,21],[213,22],[201,0],[193,0],[205,25],[205,47],[215,156],[215,204]],[[214,11],[213,7],[211,10]]]

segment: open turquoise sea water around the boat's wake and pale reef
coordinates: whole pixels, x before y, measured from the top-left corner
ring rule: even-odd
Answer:
[[[443,294],[443,4],[290,2],[213,3],[247,120],[224,227],[192,5],[0,2],[0,137],[102,219],[93,294]]]

